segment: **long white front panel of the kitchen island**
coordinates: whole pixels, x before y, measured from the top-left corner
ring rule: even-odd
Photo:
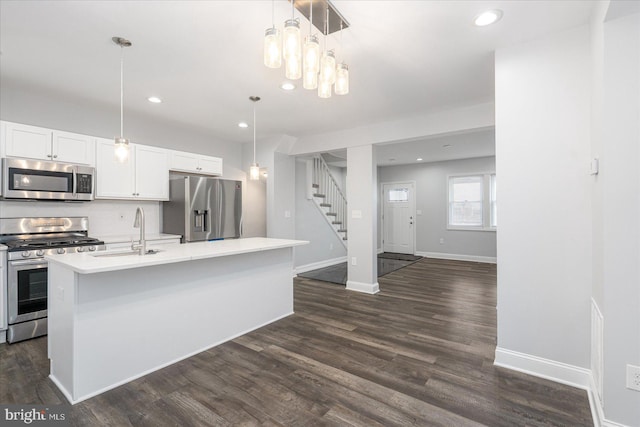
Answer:
[[[74,402],[293,313],[292,249],[78,275]]]

